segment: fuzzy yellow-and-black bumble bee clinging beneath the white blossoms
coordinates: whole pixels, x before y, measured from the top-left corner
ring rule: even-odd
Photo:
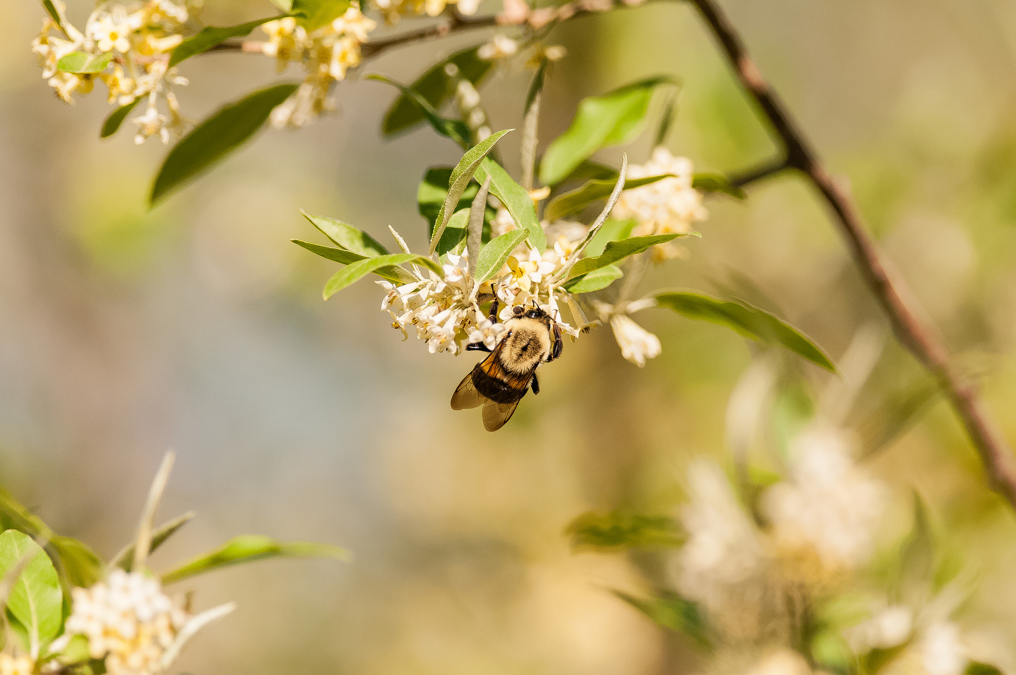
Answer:
[[[497,313],[495,300],[491,305],[492,321],[497,321]],[[539,307],[515,307],[512,314],[505,321],[507,330],[493,350],[483,343],[466,348],[490,355],[469,371],[451,396],[452,410],[483,406],[484,428],[488,431],[497,431],[511,419],[529,388],[539,393],[536,367],[557,359],[564,347],[557,321]]]

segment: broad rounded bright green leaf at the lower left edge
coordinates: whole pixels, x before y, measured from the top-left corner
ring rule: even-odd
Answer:
[[[27,630],[29,645],[49,645],[63,623],[63,593],[57,570],[31,537],[8,530],[0,535],[0,577],[30,556],[10,595],[7,610]]]

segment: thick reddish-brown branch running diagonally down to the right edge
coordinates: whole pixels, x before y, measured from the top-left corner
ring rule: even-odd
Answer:
[[[780,139],[785,160],[779,169],[746,173],[745,185],[782,168],[804,173],[825,199],[840,234],[846,240],[865,281],[889,315],[893,329],[913,356],[939,380],[956,414],[977,448],[992,486],[1016,508],[1016,465],[1012,450],[992,420],[974,384],[950,363],[949,352],[935,327],[923,316],[902,280],[879,253],[847,191],[826,172],[811,141],[801,130],[776,91],[752,62],[737,29],[715,0],[692,0],[719,41],[741,83],[748,90],[772,131]],[[771,165],[775,167],[776,165]]]

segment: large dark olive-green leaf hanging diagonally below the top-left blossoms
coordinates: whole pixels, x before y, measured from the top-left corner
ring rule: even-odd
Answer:
[[[158,170],[149,204],[221,162],[264,126],[272,108],[297,90],[297,84],[275,84],[219,109],[177,143]]]

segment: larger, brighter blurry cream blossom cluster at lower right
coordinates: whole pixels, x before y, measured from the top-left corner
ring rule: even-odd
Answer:
[[[834,579],[873,552],[885,506],[881,483],[858,467],[841,431],[814,426],[791,447],[790,480],[771,487],[763,509],[778,554],[812,579]]]

